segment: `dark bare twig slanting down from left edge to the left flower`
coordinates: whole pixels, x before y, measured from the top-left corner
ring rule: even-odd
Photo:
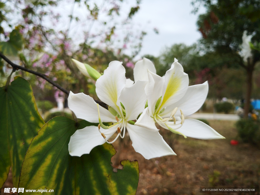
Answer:
[[[19,65],[13,63],[11,60],[9,60],[9,59],[8,59],[4,54],[2,54],[1,52],[0,52],[0,57],[2,57],[2,58],[3,58],[8,64],[10,64],[13,68],[16,68],[17,70],[18,70],[18,69],[21,69],[21,70],[24,70],[24,71],[26,71],[26,72],[29,72],[29,73],[35,74],[35,75],[37,75],[37,76],[40,76],[40,77],[42,77],[43,79],[45,79],[46,81],[48,81],[49,83],[51,83],[53,86],[57,87],[58,89],[60,89],[61,91],[63,91],[63,92],[66,93],[67,95],[69,95],[69,91],[68,91],[68,90],[64,89],[63,87],[59,86],[59,85],[58,85],[57,83],[55,83],[54,81],[50,80],[47,75],[42,74],[42,73],[38,73],[38,72],[36,72],[36,71],[34,71],[34,70],[31,70],[31,69],[29,69],[29,68],[24,68],[24,67],[22,67],[22,66],[19,66]]]

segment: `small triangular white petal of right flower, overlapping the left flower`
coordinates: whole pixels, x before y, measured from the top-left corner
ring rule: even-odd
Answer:
[[[150,131],[158,131],[159,129],[156,128],[154,119],[151,118],[149,114],[148,107],[144,109],[141,116],[138,118],[138,120],[135,122],[134,125],[137,125],[139,127],[144,127]]]

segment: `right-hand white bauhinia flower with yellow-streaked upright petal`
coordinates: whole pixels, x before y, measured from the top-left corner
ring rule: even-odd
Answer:
[[[198,139],[224,138],[205,123],[184,118],[195,113],[203,105],[209,89],[207,81],[188,87],[188,75],[183,72],[183,67],[176,59],[164,79],[147,71],[148,107],[142,112],[135,125],[154,131],[157,122],[161,127],[181,134],[185,138],[186,136]],[[181,120],[178,120],[179,117]]]

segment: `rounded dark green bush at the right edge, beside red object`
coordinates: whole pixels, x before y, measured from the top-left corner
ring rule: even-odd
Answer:
[[[238,136],[243,142],[260,146],[260,121],[259,119],[240,119],[236,122]]]

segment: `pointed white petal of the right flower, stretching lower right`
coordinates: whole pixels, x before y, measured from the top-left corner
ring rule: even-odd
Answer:
[[[174,129],[173,125],[169,126]],[[176,129],[176,131],[183,133],[187,137],[197,139],[225,139],[209,125],[196,119],[185,119],[183,126]]]

